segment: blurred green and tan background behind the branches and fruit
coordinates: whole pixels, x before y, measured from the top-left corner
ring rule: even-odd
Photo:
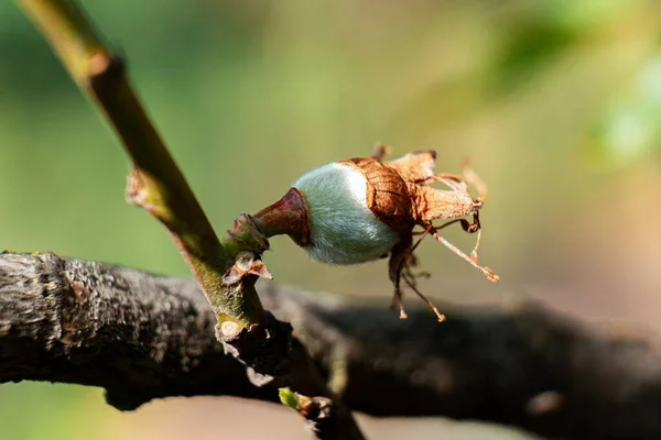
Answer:
[[[657,1],[82,3],[128,57],[218,231],[304,172],[369,155],[379,141],[395,154],[437,150],[440,172],[470,156],[490,188],[480,257],[502,282],[427,241],[425,293],[456,304],[532,297],[607,330],[661,331]],[[127,170],[42,36],[13,2],[0,3],[0,249],[188,276],[163,228],[124,202]],[[446,237],[472,248],[458,228]],[[386,262],[328,267],[288,239],[272,244],[266,263],[279,283],[387,306]],[[448,438],[514,438],[447,420],[361,420],[377,438],[437,438],[441,427]],[[99,389],[0,386],[2,439],[210,439],[232,429],[306,438],[295,415],[272,405],[170,399],[120,414]]]

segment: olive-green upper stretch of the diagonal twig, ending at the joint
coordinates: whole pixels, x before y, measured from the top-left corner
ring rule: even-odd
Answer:
[[[263,319],[251,285],[228,295],[223,275],[234,264],[186,179],[131,88],[123,62],[113,56],[85,18],[66,0],[19,0],[47,37],[76,84],[89,94],[132,160],[128,196],[171,232],[191,272],[217,312],[219,323],[240,331]]]

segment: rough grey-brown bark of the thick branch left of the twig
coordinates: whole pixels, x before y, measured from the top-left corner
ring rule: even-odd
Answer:
[[[223,353],[194,280],[53,254],[0,256],[0,382],[101,386],[133,409],[154,397],[264,398]],[[219,374],[219,372],[221,372]]]

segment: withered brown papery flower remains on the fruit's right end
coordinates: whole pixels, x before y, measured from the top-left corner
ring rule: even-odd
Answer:
[[[407,312],[402,302],[401,282],[419,295],[436,314],[438,321],[445,316],[418,289],[415,258],[413,251],[427,235],[432,234],[459,257],[478,268],[491,282],[499,277],[488,267],[479,265],[477,248],[479,246],[480,223],[478,212],[484,205],[484,197],[473,197],[468,184],[475,184],[480,191],[486,193],[486,186],[469,165],[464,167],[464,176],[453,174],[434,174],[436,164],[435,151],[419,151],[409,153],[398,160],[382,162],[390,148],[377,145],[370,158],[353,158],[343,163],[350,164],[365,175],[367,179],[367,205],[373,215],[391,227],[400,235],[399,243],[392,249],[389,262],[390,279],[394,284],[394,296],[391,307],[399,306],[400,318],[405,319]],[[448,189],[437,189],[427,185],[442,183]],[[464,217],[473,216],[473,223]],[[448,220],[440,227],[434,227],[434,220]],[[478,232],[478,240],[470,256],[467,256],[438,234],[438,229],[453,223],[460,223],[464,231]],[[421,238],[413,243],[413,229],[423,228]],[[422,276],[427,275],[423,273]]]

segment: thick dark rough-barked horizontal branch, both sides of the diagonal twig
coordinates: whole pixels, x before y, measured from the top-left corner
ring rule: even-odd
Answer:
[[[455,310],[438,324],[426,309],[400,321],[382,301],[271,283],[261,292],[355,410],[483,419],[567,439],[661,438],[661,356],[644,341],[530,305]],[[0,255],[0,383],[101,386],[120,409],[165,396],[274,400],[223,353],[214,324],[193,279]]]

